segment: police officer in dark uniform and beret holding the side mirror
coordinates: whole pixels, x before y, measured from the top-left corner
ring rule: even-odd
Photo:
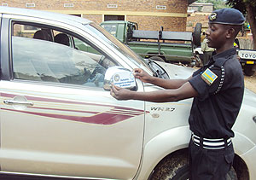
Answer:
[[[236,9],[219,9],[209,15],[207,44],[216,50],[210,61],[188,79],[161,79],[135,69],[136,78],[166,90],[137,92],[112,86],[111,95],[119,100],[177,102],[194,97],[189,115],[192,131],[189,171],[192,180],[226,179],[233,163],[234,149],[230,137],[234,132],[231,128],[239,113],[244,91],[234,40],[244,20]]]

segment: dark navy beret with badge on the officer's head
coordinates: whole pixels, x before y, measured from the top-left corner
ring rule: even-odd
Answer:
[[[214,10],[208,17],[209,23],[224,25],[242,25],[245,18],[239,10],[236,9],[218,9]]]

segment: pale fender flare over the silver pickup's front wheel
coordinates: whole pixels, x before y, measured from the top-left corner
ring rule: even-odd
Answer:
[[[255,144],[239,132],[235,132],[236,136],[232,140],[234,143],[235,153],[243,159],[243,154],[247,154],[251,149],[255,148]],[[166,155],[173,152],[188,148],[191,131],[189,125],[173,128],[163,131],[158,136],[146,142],[144,145],[142,164],[137,174],[138,180],[148,179],[154,167],[163,160]],[[247,165],[249,168],[249,166]],[[250,169],[249,169],[250,170]],[[249,171],[252,173],[252,170]]]

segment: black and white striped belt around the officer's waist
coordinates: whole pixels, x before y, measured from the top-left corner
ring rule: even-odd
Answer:
[[[208,138],[196,136],[194,133],[192,133],[192,141],[195,143],[196,146],[207,148],[207,149],[226,148],[230,146],[230,144],[232,143],[231,138],[208,139]]]

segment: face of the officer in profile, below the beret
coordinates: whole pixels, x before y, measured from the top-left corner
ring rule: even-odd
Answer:
[[[226,41],[227,29],[224,25],[210,24],[206,32],[206,38],[208,39],[208,46],[215,49],[220,49]]]

